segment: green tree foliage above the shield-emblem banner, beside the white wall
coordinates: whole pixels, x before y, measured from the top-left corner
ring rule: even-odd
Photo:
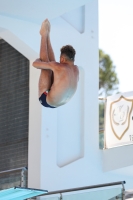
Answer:
[[[108,54],[99,50],[99,95],[111,95],[118,91],[119,80],[115,66]]]

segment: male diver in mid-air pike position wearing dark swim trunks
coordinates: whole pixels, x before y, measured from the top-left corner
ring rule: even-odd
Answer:
[[[74,65],[75,50],[66,45],[61,48],[60,62],[55,61],[50,42],[50,23],[46,19],[41,26],[40,59],[33,66],[41,69],[39,79],[39,101],[49,108],[66,104],[74,95],[79,80],[79,70]]]

